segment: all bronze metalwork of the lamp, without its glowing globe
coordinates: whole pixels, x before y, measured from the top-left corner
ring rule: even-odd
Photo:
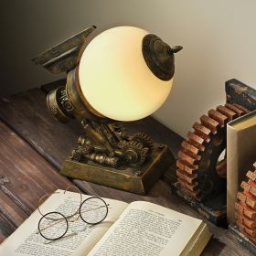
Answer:
[[[77,46],[74,47],[75,40],[71,37],[34,59],[52,72],[68,72],[66,87],[48,93],[48,109],[59,122],[67,123],[76,119],[84,130],[78,146],[64,162],[61,174],[144,195],[168,169],[174,157],[166,145],[155,144],[146,133],[128,134],[121,124],[92,108],[86,95],[81,92],[78,70],[80,56],[85,48],[81,38],[86,39],[94,28],[74,36]],[[158,77],[163,73],[161,77],[170,80],[174,74],[174,52],[180,48],[172,49],[160,38],[150,37],[155,39],[155,44],[151,47],[145,43],[147,40],[142,42],[144,58],[155,61],[154,65],[158,68],[155,66],[154,73]],[[152,44],[152,40],[149,42]],[[144,48],[148,47],[147,52]],[[164,58],[165,54],[168,55],[167,59]],[[67,58],[72,61],[69,62]],[[64,68],[62,65],[66,65],[67,61],[69,65]],[[154,66],[148,62],[147,65],[149,68]]]

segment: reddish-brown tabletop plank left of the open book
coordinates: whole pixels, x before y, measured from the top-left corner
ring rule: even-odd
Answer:
[[[0,122],[0,241],[37,208],[38,200],[71,183],[29,144]]]

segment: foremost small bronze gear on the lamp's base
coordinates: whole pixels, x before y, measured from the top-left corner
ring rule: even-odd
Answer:
[[[129,165],[139,166],[144,164],[148,148],[144,147],[143,144],[135,141],[124,142],[122,150],[123,158]]]

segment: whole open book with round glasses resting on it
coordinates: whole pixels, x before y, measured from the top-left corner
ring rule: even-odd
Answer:
[[[89,196],[82,195],[83,199]],[[211,237],[206,224],[174,210],[144,201],[126,204],[104,198],[109,213],[100,224],[78,219],[60,240],[45,240],[37,232],[41,218],[36,210],[0,245],[3,256],[133,256],[193,255],[203,251]],[[65,211],[80,203],[80,194],[57,190],[40,207],[41,212]],[[75,235],[69,235],[74,232]]]

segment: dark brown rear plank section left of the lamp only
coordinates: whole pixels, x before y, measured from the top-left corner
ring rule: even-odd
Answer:
[[[43,91],[33,89],[3,98],[0,109],[2,120],[55,166],[59,167],[76,146],[80,126],[56,121],[48,112]]]

